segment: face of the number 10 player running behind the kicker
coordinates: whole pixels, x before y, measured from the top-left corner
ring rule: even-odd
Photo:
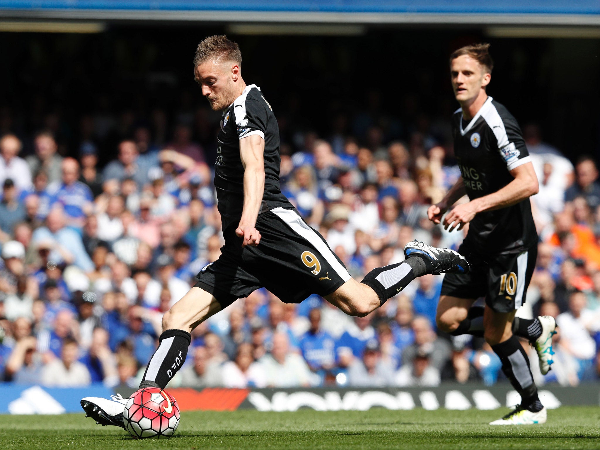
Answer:
[[[477,98],[481,89],[485,88],[491,79],[491,75],[482,65],[468,55],[452,59],[450,76],[454,96],[460,103]]]

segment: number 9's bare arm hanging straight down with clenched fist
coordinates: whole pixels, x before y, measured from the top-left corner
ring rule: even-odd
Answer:
[[[259,134],[253,134],[239,140],[239,156],[244,166],[244,209],[236,235],[244,238],[242,247],[259,245],[260,233],[256,229],[256,218],[259,215],[265,192],[265,140]]]

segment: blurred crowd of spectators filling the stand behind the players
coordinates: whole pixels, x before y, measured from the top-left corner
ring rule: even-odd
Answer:
[[[199,111],[179,115],[172,130],[160,117],[139,124],[127,117],[125,127],[110,115],[83,118],[86,132],[76,149],[61,146],[61,128],[52,121],[34,136],[17,136],[3,122],[5,381],[137,387],[157,347],[162,314],[224,243],[211,167],[220,118]],[[283,133],[283,192],[358,279],[400,262],[413,239],[456,248],[468,233],[427,220],[428,206],[460,176],[449,122],[421,118],[403,133],[394,124],[365,111],[334,120],[328,136]],[[600,371],[598,169],[592,158],[572,164],[542,142],[535,125],[523,131],[540,184],[532,198],[540,243],[518,315],[556,317],[553,370],[542,377],[535,352],[523,346],[537,383],[577,385]],[[99,150],[106,136],[116,158]],[[501,364],[483,340],[437,331],[441,283],[441,276],[418,278],[356,318],[316,295],[284,304],[256,290],[194,330],[185,367],[170,385],[497,382]]]

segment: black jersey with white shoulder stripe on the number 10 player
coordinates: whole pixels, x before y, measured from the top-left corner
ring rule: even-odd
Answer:
[[[505,187],[514,179],[510,170],[530,162],[516,119],[491,97],[469,124],[464,123],[463,111],[458,109],[452,116],[452,134],[454,153],[471,200]],[[529,199],[480,212],[470,222],[465,241],[482,253],[518,252],[535,245],[538,233]]]

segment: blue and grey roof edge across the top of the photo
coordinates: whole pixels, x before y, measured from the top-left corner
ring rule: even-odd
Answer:
[[[4,19],[600,25],[597,0],[0,0]]]

